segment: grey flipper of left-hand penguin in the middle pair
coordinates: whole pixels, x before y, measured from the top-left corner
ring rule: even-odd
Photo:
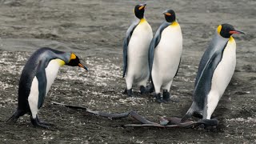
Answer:
[[[130,42],[130,38],[134,32],[134,29],[136,28],[136,26],[138,26],[139,21],[135,21],[133,22],[129,29],[126,31],[126,38],[123,41],[123,72],[122,72],[122,78],[125,77],[126,75],[126,69],[127,69],[127,61],[128,61],[128,45]]]

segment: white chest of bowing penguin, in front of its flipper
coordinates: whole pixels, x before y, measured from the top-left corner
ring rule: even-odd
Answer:
[[[64,63],[65,62],[61,59],[54,59],[51,60],[48,66],[46,67],[46,94],[50,90],[50,86],[54,83],[54,80],[57,77],[59,67],[64,65]]]

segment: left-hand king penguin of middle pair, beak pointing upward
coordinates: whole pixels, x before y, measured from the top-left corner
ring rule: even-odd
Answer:
[[[132,86],[140,86],[141,94],[145,94],[146,82],[150,77],[148,51],[153,32],[144,18],[146,4],[135,6],[135,20],[126,32],[123,43],[123,74],[126,77],[125,94],[132,96]]]

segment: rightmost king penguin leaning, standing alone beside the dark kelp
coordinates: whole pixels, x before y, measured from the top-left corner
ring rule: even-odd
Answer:
[[[202,55],[194,84],[193,102],[182,122],[192,115],[210,119],[226,90],[236,65],[236,43],[232,34],[244,34],[230,24],[218,26],[214,38]]]

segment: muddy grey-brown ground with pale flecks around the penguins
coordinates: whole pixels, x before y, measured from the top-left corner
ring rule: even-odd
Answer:
[[[182,27],[183,54],[171,93],[178,103],[158,104],[152,95],[122,94],[122,39],[135,1],[0,0],[0,143],[253,143],[256,142],[256,2],[253,0],[147,1],[146,18],[155,32],[162,11],[174,9]],[[92,110],[136,110],[158,122],[161,116],[182,117],[191,104],[198,62],[214,30],[230,23],[246,35],[235,35],[237,66],[214,117],[217,130],[126,128],[133,118],[107,119],[54,106],[52,101],[88,106]],[[15,124],[6,119],[17,106],[18,81],[34,50],[50,46],[74,51],[88,66],[63,66],[39,116],[54,123],[34,128],[29,116]],[[136,90],[136,89],[135,89]],[[137,89],[138,90],[138,89]]]

